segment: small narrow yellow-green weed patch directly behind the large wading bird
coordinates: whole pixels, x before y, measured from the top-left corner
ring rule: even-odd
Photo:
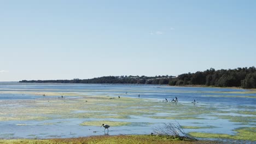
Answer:
[[[102,124],[110,125],[110,127],[117,127],[117,126],[129,125],[131,123],[130,122],[114,122],[114,121],[87,121],[87,122],[81,123],[80,125],[101,126]]]

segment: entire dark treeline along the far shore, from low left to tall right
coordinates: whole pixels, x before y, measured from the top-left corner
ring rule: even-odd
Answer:
[[[255,67],[221,69],[213,68],[196,73],[174,76],[103,76],[94,79],[73,80],[22,80],[19,82],[53,82],[53,83],[131,83],[131,84],[155,84],[170,86],[203,85],[214,87],[242,87],[256,88]]]

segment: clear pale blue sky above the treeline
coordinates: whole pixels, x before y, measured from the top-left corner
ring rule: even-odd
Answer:
[[[256,65],[256,1],[0,1],[0,81]]]

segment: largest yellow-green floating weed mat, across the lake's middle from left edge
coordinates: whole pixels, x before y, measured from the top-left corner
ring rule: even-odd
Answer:
[[[65,93],[63,93],[65,94]],[[19,103],[19,102],[18,102]],[[21,103],[21,102],[20,102]],[[101,104],[99,106],[99,104]],[[104,104],[104,105],[102,105]],[[154,100],[135,98],[109,99],[106,96],[83,97],[79,99],[37,99],[22,101],[23,107],[4,107],[1,109],[4,115],[0,121],[11,120],[44,120],[54,118],[118,118],[127,119],[130,116],[152,116],[159,112],[175,114],[168,117],[152,117],[164,119],[202,119],[197,116],[217,111],[216,108],[200,107],[193,105],[172,105],[171,103],[159,103]],[[139,106],[139,107],[138,107]],[[160,106],[158,109],[150,108]],[[89,112],[75,112],[75,111]],[[125,110],[125,111],[124,111]],[[13,114],[10,117],[9,112]],[[90,112],[91,111],[91,112]],[[95,112],[96,111],[96,112]],[[30,115],[28,115],[28,113]],[[104,114],[113,115],[104,115]],[[115,116],[114,116],[115,115]]]

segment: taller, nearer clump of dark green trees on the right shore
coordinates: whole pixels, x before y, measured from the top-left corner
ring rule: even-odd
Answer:
[[[180,85],[206,85],[214,87],[242,87],[256,88],[255,67],[221,69],[211,68],[196,73],[181,74],[169,81],[171,86]]]

